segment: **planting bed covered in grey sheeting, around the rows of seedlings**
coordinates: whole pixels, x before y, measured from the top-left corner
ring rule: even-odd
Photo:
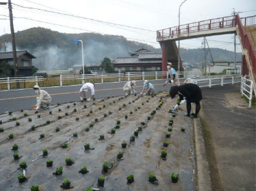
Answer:
[[[195,190],[191,119],[184,117],[182,108],[175,117],[169,113],[176,100],[165,95],[163,92],[154,97],[106,97],[96,100],[95,105],[93,102],[66,103],[53,105],[50,110],[42,110],[38,114],[24,110],[1,115],[3,124],[0,127],[5,131],[0,133],[0,190],[30,190],[32,185],[39,185],[40,190],[62,190],[60,185],[67,178],[71,181],[69,190],[86,190],[88,186],[98,188],[99,176],[105,177],[104,188],[100,187],[100,190]],[[157,108],[161,97],[163,105]],[[90,110],[93,113],[89,116]],[[156,114],[151,115],[153,110]],[[124,118],[125,115],[128,119]],[[148,120],[148,116],[152,119]],[[17,118],[16,121],[12,120],[13,117]],[[29,117],[32,121],[28,121]],[[76,117],[79,117],[78,121]],[[96,123],[95,118],[99,119]],[[170,119],[174,121],[172,132],[167,130]],[[47,120],[51,122],[47,124]],[[111,134],[117,120],[121,121],[120,128]],[[19,126],[16,126],[17,121]],[[145,125],[141,125],[143,121]],[[90,124],[93,126],[86,131]],[[31,130],[32,125],[36,126],[35,130]],[[56,126],[60,128],[59,132],[56,132]],[[139,126],[142,128],[139,136],[130,142]],[[182,126],[186,127],[185,132],[181,132]],[[78,137],[73,137],[74,132]],[[14,139],[8,139],[11,133]],[[42,133],[45,137],[39,139]],[[167,133],[170,133],[170,138],[165,137]],[[100,134],[104,134],[103,140],[99,140]],[[127,142],[127,148],[121,148],[122,141]],[[166,159],[161,158],[164,141],[169,141]],[[11,150],[14,143],[19,146],[18,160],[14,160],[15,151]],[[62,148],[63,143],[68,143],[68,147]],[[91,150],[84,149],[85,143],[90,143]],[[47,148],[48,156],[43,156],[43,148]],[[123,157],[118,160],[119,151],[123,152]],[[73,165],[65,164],[67,157],[71,157]],[[52,159],[53,166],[46,166],[48,159]],[[27,181],[24,183],[17,179],[23,172],[19,167],[21,161],[27,163]],[[102,173],[104,161],[109,163],[107,173]],[[52,173],[60,166],[63,166],[63,174],[54,176]],[[87,174],[78,173],[82,166],[87,166]],[[172,172],[180,174],[178,183],[172,183]],[[156,175],[158,185],[148,181],[149,173]],[[127,184],[128,174],[134,175],[134,183]]]

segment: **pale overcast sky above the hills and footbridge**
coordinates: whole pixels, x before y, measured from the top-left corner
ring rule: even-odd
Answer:
[[[0,0],[0,2],[7,1]],[[159,43],[156,42],[156,30],[178,25],[178,10],[182,2],[183,0],[12,0],[14,30],[17,32],[40,26],[64,33],[97,32],[122,35],[129,40],[159,48]],[[255,15],[255,2],[255,0],[187,0],[181,6],[180,23],[184,25],[229,16],[233,8],[236,12],[241,12],[240,17]],[[75,17],[53,12],[75,15]],[[7,5],[0,5],[0,35],[3,34],[10,34]],[[207,37],[210,48],[231,51],[234,50],[233,39],[233,34]],[[202,38],[181,41],[181,48],[201,47]],[[239,46],[237,51],[240,52]]]

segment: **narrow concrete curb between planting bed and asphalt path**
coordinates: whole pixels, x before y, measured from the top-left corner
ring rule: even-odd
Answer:
[[[209,169],[209,163],[207,161],[205,152],[204,136],[202,131],[202,124],[200,119],[192,120],[194,145],[195,145],[195,161],[196,161],[196,176],[198,179],[198,185],[196,190],[198,191],[213,191],[211,184],[211,175]]]

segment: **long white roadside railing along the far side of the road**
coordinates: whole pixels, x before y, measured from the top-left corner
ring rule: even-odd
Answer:
[[[177,72],[181,78],[193,77],[194,72],[183,71]],[[121,81],[139,81],[164,79],[167,77],[167,72],[126,72],[117,74],[85,74],[85,75],[52,75],[47,77],[6,77],[0,78],[0,90],[10,90],[16,88],[16,83],[19,83],[19,88],[32,88],[34,85],[39,86],[64,86],[64,85],[81,85],[84,79],[90,83],[111,83]]]

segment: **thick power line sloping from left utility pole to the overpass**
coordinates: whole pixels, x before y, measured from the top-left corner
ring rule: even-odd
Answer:
[[[128,28],[134,28],[134,29],[137,29],[137,30],[145,30],[145,31],[149,31],[149,32],[156,32],[154,30],[148,30],[148,29],[145,29],[145,28],[137,28],[137,27],[134,27],[134,26],[121,25],[121,24],[117,24],[117,23],[110,23],[110,22],[100,21],[100,20],[97,20],[97,19],[91,19],[91,18],[82,17],[82,16],[78,16],[78,15],[64,14],[64,13],[60,13],[60,12],[54,12],[54,11],[51,11],[51,10],[44,10],[44,9],[41,9],[41,8],[21,6],[21,5],[15,4],[15,3],[12,3],[12,4],[16,5],[16,6],[19,6],[19,7],[22,7],[22,8],[40,10],[40,11],[43,11],[43,12],[51,12],[53,14],[66,15],[66,16],[69,16],[69,17],[77,17],[77,18],[80,18],[80,19],[87,19],[89,21],[95,21],[95,22],[98,22],[98,23],[104,23],[104,24],[115,25],[115,26],[124,26],[124,27],[128,27]]]

